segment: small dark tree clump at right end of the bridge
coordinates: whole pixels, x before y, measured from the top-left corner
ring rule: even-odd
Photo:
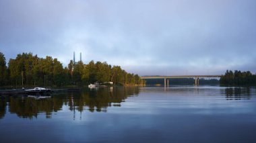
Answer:
[[[220,78],[222,85],[256,85],[256,75],[250,71],[226,70],[223,77]]]

